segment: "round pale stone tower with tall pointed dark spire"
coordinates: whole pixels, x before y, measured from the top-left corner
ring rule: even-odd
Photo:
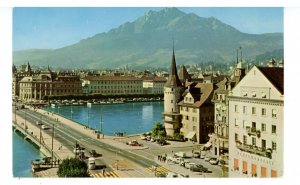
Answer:
[[[181,97],[183,87],[178,78],[176,60],[173,44],[172,63],[169,72],[169,78],[164,86],[164,125],[168,136],[173,136],[174,133],[180,132],[181,115],[177,102]]]

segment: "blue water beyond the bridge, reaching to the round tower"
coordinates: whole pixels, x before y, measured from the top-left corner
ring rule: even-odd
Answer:
[[[105,135],[115,132],[136,134],[152,130],[155,122],[162,123],[163,102],[138,102],[124,104],[105,104],[80,106],[45,107],[66,118],[100,130],[102,115],[102,131]]]

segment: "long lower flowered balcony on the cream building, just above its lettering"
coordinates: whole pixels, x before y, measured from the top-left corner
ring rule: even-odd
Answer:
[[[258,146],[247,145],[240,141],[236,141],[236,147],[241,151],[272,159],[272,149],[270,148],[266,149]]]

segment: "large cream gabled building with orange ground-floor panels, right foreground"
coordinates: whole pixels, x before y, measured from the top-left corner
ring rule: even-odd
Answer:
[[[232,89],[228,97],[230,177],[282,176],[283,71],[254,66]]]

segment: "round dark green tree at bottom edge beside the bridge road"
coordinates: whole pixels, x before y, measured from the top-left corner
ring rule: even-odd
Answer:
[[[62,161],[57,171],[58,177],[89,177],[87,164],[77,158]]]

